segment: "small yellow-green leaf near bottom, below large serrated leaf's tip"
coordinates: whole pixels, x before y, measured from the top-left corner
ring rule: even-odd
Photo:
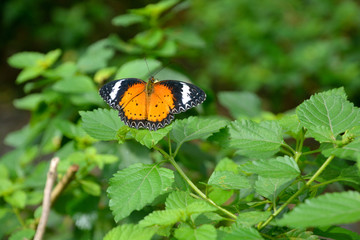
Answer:
[[[183,209],[154,211],[139,222],[142,227],[172,226],[185,217]]]

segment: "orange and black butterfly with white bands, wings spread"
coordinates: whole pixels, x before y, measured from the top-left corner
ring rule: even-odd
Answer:
[[[170,124],[174,114],[203,103],[205,92],[199,87],[181,81],[148,82],[138,78],[124,78],[105,84],[100,96],[119,111],[121,120],[132,128],[156,131]]]

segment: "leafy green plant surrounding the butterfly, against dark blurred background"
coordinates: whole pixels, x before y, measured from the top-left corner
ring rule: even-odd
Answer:
[[[74,62],[61,50],[9,58],[28,94],[14,104],[31,119],[5,138],[14,150],[0,161],[1,237],[34,235],[43,160],[58,156],[66,185],[52,199],[46,239],[358,238],[336,226],[360,216],[360,112],[343,88],[274,115],[253,93],[212,92],[200,81],[207,102],[158,131],[131,129],[105,109],[98,88],[146,78],[144,54],[156,72],[156,59],[204,47],[196,31],[169,21],[187,7],[167,0],[129,10],[113,24],[139,33],[95,42]],[[171,68],[157,77],[189,81]],[[212,114],[216,96],[229,118]]]

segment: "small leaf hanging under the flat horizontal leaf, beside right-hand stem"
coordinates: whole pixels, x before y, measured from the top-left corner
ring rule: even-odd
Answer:
[[[275,201],[277,196],[287,188],[294,178],[274,178],[258,176],[255,182],[255,191],[271,201]]]

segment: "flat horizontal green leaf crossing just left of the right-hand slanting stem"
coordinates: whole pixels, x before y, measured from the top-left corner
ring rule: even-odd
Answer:
[[[291,179],[300,175],[298,165],[295,160],[289,156],[252,161],[241,165],[240,168],[243,171],[270,178]]]

